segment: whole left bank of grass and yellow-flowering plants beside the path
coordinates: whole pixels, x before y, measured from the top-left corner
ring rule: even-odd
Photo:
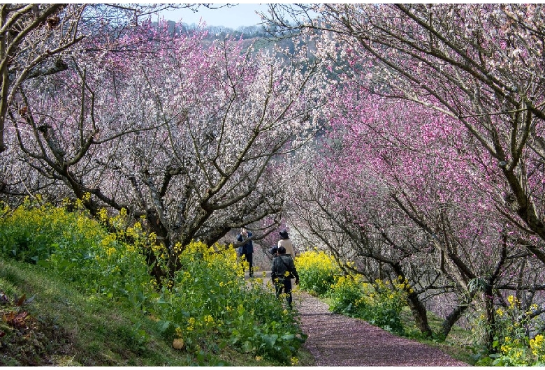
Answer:
[[[152,249],[161,258],[154,235],[125,212],[95,221],[74,208],[38,198],[1,211],[2,274],[13,278],[0,285],[3,364],[58,364],[59,353],[92,366],[300,364],[305,335],[296,311],[288,313],[260,278],[247,283],[233,248],[176,245],[182,269],[159,285],[142,253]],[[116,233],[108,232],[112,225]],[[34,297],[28,309],[23,295]],[[10,312],[17,312],[13,320]],[[43,341],[22,346],[28,355],[8,355],[22,338],[42,334]],[[46,346],[54,335],[60,342],[52,343],[65,344]]]

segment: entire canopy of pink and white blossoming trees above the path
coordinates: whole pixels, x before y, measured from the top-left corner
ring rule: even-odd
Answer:
[[[444,335],[481,309],[490,348],[508,293],[545,311],[543,6],[270,4],[276,47],[140,6],[1,9],[4,200],[127,209],[159,277],[191,240],[285,224],[409,281],[426,334],[428,309]]]

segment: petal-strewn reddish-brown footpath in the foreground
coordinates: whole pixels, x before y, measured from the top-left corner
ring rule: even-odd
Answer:
[[[314,356],[314,366],[470,366],[437,348],[395,336],[358,318],[331,313],[328,304],[302,290],[294,290],[293,305],[308,335],[304,346]]]

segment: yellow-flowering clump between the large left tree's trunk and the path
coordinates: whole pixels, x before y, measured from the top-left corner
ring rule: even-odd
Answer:
[[[221,346],[291,361],[305,339],[296,316],[263,279],[245,282],[234,249],[192,242],[180,253],[180,265],[172,289],[163,288],[154,308],[169,339],[198,351],[219,338]]]

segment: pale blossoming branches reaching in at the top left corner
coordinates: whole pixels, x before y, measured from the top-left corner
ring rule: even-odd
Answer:
[[[0,6],[0,153],[5,151],[10,110],[19,110],[15,95],[29,79],[68,68],[68,57],[103,49],[82,47],[89,37],[110,40],[140,18],[170,8],[194,4],[64,4],[5,3]],[[89,46],[89,45],[87,45]],[[98,47],[98,48],[97,48]]]

